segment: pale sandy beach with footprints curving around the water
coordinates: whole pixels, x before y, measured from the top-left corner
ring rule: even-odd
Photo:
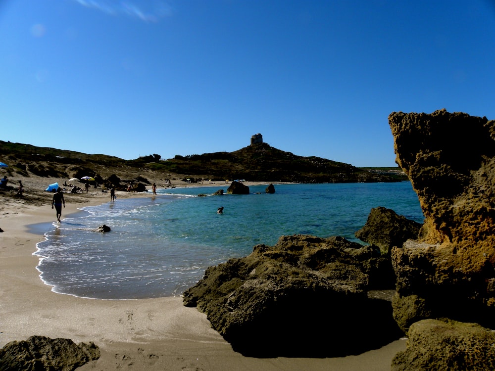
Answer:
[[[177,184],[185,185],[191,186]],[[4,232],[0,233],[0,346],[31,335],[70,338],[76,343],[93,341],[101,357],[78,369],[82,371],[381,371],[390,370],[396,352],[405,349],[405,340],[398,340],[381,349],[344,358],[248,358],[234,352],[210,327],[206,316],[195,308],[184,307],[180,297],[96,300],[54,293],[39,278],[39,257],[33,255],[36,243],[44,236],[29,228],[55,221],[51,194],[30,196],[29,187],[25,193],[26,199],[31,197],[33,202],[1,195],[0,228]],[[117,192],[117,196],[119,202],[125,197],[149,197],[151,193]],[[62,223],[64,217],[80,207],[108,202],[109,193],[91,189],[88,194],[66,194],[65,201]]]

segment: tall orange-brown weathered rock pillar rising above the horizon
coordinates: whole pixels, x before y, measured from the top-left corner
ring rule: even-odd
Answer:
[[[394,112],[396,162],[425,216],[420,237],[392,250],[394,317],[495,327],[495,121],[465,113]]]

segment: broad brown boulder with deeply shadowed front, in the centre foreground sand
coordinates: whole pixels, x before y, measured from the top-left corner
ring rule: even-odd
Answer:
[[[367,297],[379,258],[378,248],[343,237],[282,236],[209,267],[184,305],[247,356],[358,354],[399,335],[390,302]]]

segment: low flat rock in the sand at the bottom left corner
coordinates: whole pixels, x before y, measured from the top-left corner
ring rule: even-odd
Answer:
[[[72,371],[99,356],[99,348],[92,342],[76,345],[70,339],[31,336],[0,349],[0,370]]]

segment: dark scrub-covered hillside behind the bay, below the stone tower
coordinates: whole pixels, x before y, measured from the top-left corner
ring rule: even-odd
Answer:
[[[113,174],[138,181],[190,178],[193,181],[246,179],[254,182],[350,183],[407,179],[398,168],[360,169],[320,157],[297,156],[267,143],[234,152],[177,155],[168,160],[161,160],[157,154],[124,160],[103,154],[0,141],[0,161],[9,165],[9,174],[67,179],[91,176],[101,183]]]

